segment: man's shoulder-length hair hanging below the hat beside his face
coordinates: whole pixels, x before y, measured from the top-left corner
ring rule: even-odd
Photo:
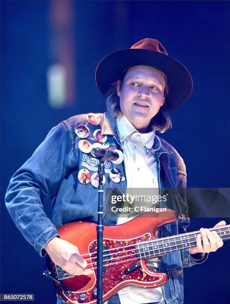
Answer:
[[[127,70],[128,71],[128,70]],[[126,72],[127,72],[126,71]],[[123,81],[125,74],[122,74],[120,88],[122,89]],[[117,80],[118,81],[118,80]],[[107,110],[109,111],[112,117],[121,117],[122,111],[120,108],[120,98],[117,96],[117,81],[111,84],[110,89],[107,93],[107,98],[105,100]],[[169,91],[169,87],[167,84],[167,78],[165,76],[165,88],[164,88],[164,97],[167,95]],[[169,117],[168,112],[165,110],[165,104],[163,104],[158,113],[151,120],[151,128],[159,131],[160,133],[164,133],[168,129],[172,127],[172,122]]]

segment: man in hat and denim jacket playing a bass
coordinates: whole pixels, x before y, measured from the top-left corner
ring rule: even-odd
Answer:
[[[97,141],[93,135],[101,130],[103,142],[124,154],[124,161],[110,162],[105,169],[105,188],[114,188],[114,181],[109,178],[114,170],[119,172],[118,189],[186,187],[183,159],[155,135],[155,130],[163,133],[170,128],[168,111],[190,96],[192,79],[187,69],[169,57],[157,40],[147,38],[131,49],[106,56],[97,67],[96,82],[108,108],[107,113],[97,114],[100,126],[90,124],[87,115],[60,123],[13,175],[6,193],[6,207],[24,237],[41,256],[48,253],[57,265],[74,275],[90,275],[92,270],[86,269],[87,263],[76,246],[57,237],[56,228],[72,221],[97,220],[97,190],[77,179],[82,169],[92,175],[97,162],[78,149],[79,141],[85,138],[78,130],[85,130],[92,146]],[[175,201],[176,196],[177,193]],[[55,201],[52,222],[42,208],[48,197]],[[182,205],[183,202],[177,207],[181,210]],[[103,221],[104,225],[122,222],[111,216],[109,209],[105,209]],[[188,225],[188,219],[178,220],[159,229],[158,236],[185,232]],[[182,267],[202,263],[208,252],[222,245],[217,233],[202,228],[196,247],[163,255],[161,262],[153,261],[156,268],[168,274],[162,288],[127,287],[109,303],[182,303]]]

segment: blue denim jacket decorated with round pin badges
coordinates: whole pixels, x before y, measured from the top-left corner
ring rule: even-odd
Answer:
[[[10,180],[5,196],[8,212],[25,239],[41,256],[46,254],[43,246],[51,238],[59,235],[57,227],[72,221],[97,221],[97,189],[91,183],[81,184],[77,173],[82,168],[87,168],[91,174],[96,172],[98,160],[78,149],[78,142],[81,139],[75,134],[76,126],[87,125],[90,130],[87,140],[91,144],[96,142],[93,137],[94,130],[101,128],[102,134],[107,135],[110,147],[121,150],[116,119],[109,113],[98,115],[100,126],[89,124],[86,115],[82,114],[54,127]],[[185,188],[186,169],[178,152],[159,137],[156,137],[153,148],[157,150],[154,156],[160,186],[170,187],[160,164],[160,155],[164,154],[174,187]],[[109,178],[109,172],[113,167],[118,168],[125,176],[124,161],[116,165],[107,161],[104,187],[126,188],[126,180],[115,184]],[[53,202],[52,221],[43,211],[43,204],[48,198]],[[115,225],[117,217],[111,217],[110,210],[106,207],[104,206],[104,225]],[[160,233],[163,237],[186,232],[188,226],[189,219],[177,220],[162,227]],[[162,256],[160,271],[168,275],[168,280],[163,285],[166,303],[183,303],[183,267],[201,263],[206,258],[207,254],[202,261],[195,261],[190,257],[189,250],[175,251]]]

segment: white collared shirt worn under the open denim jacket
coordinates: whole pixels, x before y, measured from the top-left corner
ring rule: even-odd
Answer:
[[[122,116],[117,118],[117,127],[124,153],[127,188],[156,188],[158,179],[156,160],[151,153],[155,132],[139,133],[130,121]],[[126,223],[132,218],[120,217],[117,224]],[[159,267],[159,260],[150,259],[147,265]],[[161,288],[141,288],[126,286],[118,292],[121,304],[140,304],[163,300]]]

